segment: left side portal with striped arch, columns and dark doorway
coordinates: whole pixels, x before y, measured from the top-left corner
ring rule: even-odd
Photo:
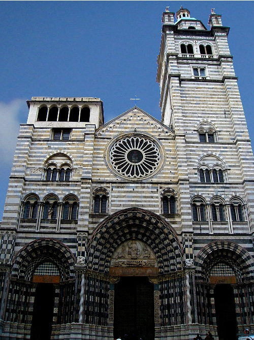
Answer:
[[[30,338],[50,339],[53,324],[76,321],[75,257],[52,239],[38,239],[13,259],[6,310],[8,322],[27,324]]]

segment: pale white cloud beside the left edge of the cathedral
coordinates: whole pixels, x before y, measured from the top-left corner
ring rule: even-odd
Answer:
[[[4,167],[10,167],[15,153],[19,124],[26,123],[28,108],[24,99],[14,99],[9,103],[0,101],[0,155]]]

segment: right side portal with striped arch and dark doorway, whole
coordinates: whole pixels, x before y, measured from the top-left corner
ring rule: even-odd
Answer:
[[[200,250],[195,266],[198,322],[216,326],[219,338],[237,339],[254,320],[252,256],[236,243],[215,241]]]

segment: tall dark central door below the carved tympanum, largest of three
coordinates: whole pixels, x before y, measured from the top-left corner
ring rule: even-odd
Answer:
[[[148,277],[121,277],[115,284],[114,337],[154,340],[153,284]]]

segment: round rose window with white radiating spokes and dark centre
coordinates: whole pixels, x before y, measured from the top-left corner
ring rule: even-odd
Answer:
[[[140,178],[149,175],[158,167],[160,152],[148,139],[127,137],[113,145],[110,160],[119,174]]]

